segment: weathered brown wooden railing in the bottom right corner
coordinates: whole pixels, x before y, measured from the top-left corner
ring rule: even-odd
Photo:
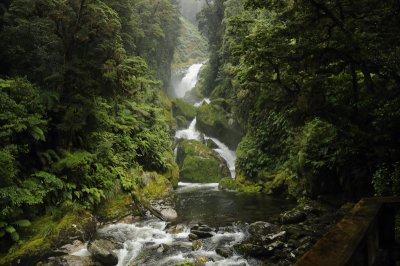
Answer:
[[[396,265],[400,198],[364,198],[301,257],[297,266]]]

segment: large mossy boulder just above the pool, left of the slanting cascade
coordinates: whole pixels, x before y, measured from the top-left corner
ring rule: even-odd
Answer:
[[[177,162],[182,181],[217,183],[230,175],[225,160],[216,151],[196,140],[179,141]]]

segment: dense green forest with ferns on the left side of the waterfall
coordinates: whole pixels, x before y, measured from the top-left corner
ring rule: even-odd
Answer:
[[[36,215],[135,190],[143,170],[177,182],[163,93],[174,1],[13,0],[0,11],[2,249]]]

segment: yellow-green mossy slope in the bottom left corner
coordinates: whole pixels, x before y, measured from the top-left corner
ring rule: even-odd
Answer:
[[[87,241],[95,230],[95,219],[87,211],[67,213],[60,220],[54,220],[52,215],[39,217],[26,229],[20,243],[0,259],[0,265],[35,265],[54,248],[70,242],[71,237]]]

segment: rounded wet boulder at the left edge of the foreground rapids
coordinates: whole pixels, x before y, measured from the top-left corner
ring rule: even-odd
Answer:
[[[110,240],[98,239],[88,244],[88,251],[92,257],[104,265],[116,265],[118,256],[113,251],[118,245]]]

